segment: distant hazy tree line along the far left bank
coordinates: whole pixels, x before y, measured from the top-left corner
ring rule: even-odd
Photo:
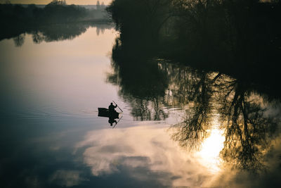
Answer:
[[[0,4],[0,39],[11,38],[25,32],[38,32],[53,24],[107,23],[105,7],[86,9],[65,1],[53,0],[40,8],[34,4]]]

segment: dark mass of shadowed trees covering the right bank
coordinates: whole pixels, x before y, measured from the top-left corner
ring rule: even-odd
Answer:
[[[136,53],[277,83],[280,1],[114,0],[107,11],[120,32],[120,53],[134,46]]]

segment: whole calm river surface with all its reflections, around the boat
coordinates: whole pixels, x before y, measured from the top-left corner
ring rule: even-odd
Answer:
[[[110,25],[58,33],[0,42],[1,187],[280,187],[280,102],[161,59],[119,66]]]

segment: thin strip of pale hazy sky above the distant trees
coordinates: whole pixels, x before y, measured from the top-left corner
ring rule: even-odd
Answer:
[[[6,0],[0,0],[5,2]],[[12,4],[48,4],[52,0],[10,0]],[[67,4],[96,4],[98,0],[66,0]],[[109,4],[112,0],[100,0],[105,4]]]

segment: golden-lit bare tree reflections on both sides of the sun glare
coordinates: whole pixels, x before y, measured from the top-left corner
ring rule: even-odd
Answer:
[[[183,122],[172,126],[176,128],[172,138],[185,148],[200,149],[212,129],[212,118],[218,115],[226,132],[221,158],[232,168],[261,170],[277,125],[266,116],[263,106],[268,104],[263,97],[226,75],[192,71],[181,75],[186,75],[186,82],[180,79],[174,88],[187,94],[188,109]],[[185,90],[178,84],[185,84]]]

